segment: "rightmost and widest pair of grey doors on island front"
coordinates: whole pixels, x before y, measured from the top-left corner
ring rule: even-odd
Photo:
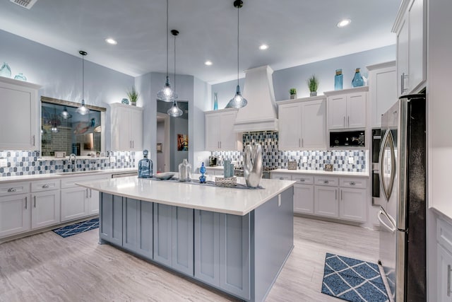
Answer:
[[[194,222],[194,276],[230,294],[249,299],[249,215],[195,210]]]

